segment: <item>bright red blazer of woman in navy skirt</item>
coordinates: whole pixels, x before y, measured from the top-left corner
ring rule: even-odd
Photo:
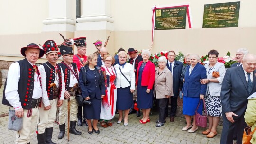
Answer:
[[[138,64],[137,71],[139,71],[139,68],[143,61],[140,61]],[[138,85],[138,73],[136,76],[136,85]],[[154,81],[155,81],[155,65],[151,61],[148,61],[143,69],[142,72],[142,78],[141,78],[141,86],[147,86],[147,89],[153,89]]]

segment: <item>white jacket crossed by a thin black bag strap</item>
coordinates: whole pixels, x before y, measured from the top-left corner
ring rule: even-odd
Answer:
[[[135,90],[135,73],[134,73],[134,68],[132,67],[132,65],[130,63],[126,63],[124,65],[124,68],[123,68],[123,66],[120,66],[122,73],[126,76],[128,81],[125,79],[125,77],[120,72],[119,64],[116,64],[114,66],[114,68],[116,69],[116,72],[117,72],[116,87],[117,88],[126,88],[126,87],[130,86],[130,83],[128,82],[128,81],[130,81],[131,82],[130,89]]]

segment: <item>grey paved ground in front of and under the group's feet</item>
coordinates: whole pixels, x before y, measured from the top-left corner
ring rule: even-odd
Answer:
[[[0,115],[8,112],[8,107],[2,105],[2,91],[0,90]],[[155,120],[157,120],[157,112],[153,111],[150,117],[151,122],[140,124],[139,117],[135,114],[129,115],[128,126],[123,126],[123,123],[117,124],[119,115],[116,114],[113,119],[113,126],[103,128],[98,125],[100,134],[87,133],[87,126],[78,127],[82,135],[70,134],[70,141],[67,142],[67,135],[58,140],[57,135],[59,128],[54,125],[53,141],[58,144],[219,144],[220,133],[222,126],[218,126],[218,135],[214,138],[208,139],[206,135],[202,135],[203,128],[199,128],[195,133],[188,133],[182,131],[185,126],[185,119],[176,117],[174,122],[169,122],[162,127],[155,127]],[[8,116],[0,117],[0,144],[14,144],[14,131],[8,130]],[[66,131],[67,132],[67,131]],[[31,144],[37,144],[36,133],[32,137]]]

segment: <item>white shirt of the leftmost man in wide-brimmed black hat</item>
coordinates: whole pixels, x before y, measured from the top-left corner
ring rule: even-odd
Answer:
[[[29,62],[30,63],[30,62]],[[33,65],[32,63],[30,63]],[[20,66],[19,63],[12,63],[9,67],[7,75],[7,85],[5,88],[5,97],[6,100],[12,105],[15,110],[22,108],[19,94],[18,94],[18,82],[20,78]],[[37,72],[34,74],[34,89],[33,89],[33,99],[39,99],[42,97],[42,87],[40,86],[40,80],[37,75]],[[48,97],[47,97],[48,98]],[[19,107],[19,108],[18,108]]]

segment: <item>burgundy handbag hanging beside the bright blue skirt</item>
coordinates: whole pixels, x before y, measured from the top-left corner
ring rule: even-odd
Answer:
[[[198,107],[200,105],[200,102],[201,102],[201,99],[200,99],[199,104],[198,104],[198,106],[196,108],[196,111],[195,111],[195,122],[196,122],[196,126],[200,126],[200,127],[204,127],[205,128],[207,126],[207,116],[200,115],[197,112],[197,109],[198,109]],[[203,99],[203,107],[204,107],[204,113],[207,115],[204,99]]]

